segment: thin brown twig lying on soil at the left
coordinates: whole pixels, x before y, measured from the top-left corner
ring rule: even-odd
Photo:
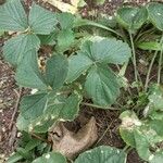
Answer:
[[[15,115],[16,115],[16,112],[17,112],[17,109],[18,109],[18,105],[20,105],[20,101],[21,101],[21,97],[22,97],[22,92],[23,92],[23,88],[21,87],[20,88],[20,91],[17,93],[17,101],[15,103],[15,108],[14,108],[14,111],[13,111],[13,114],[12,114],[12,117],[11,117],[11,122],[9,124],[9,129],[11,130],[12,129],[12,126],[13,126],[13,122],[15,120]]]

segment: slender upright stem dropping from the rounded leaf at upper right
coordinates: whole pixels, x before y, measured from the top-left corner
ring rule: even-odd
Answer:
[[[136,62],[136,51],[135,51],[134,40],[133,40],[133,36],[131,36],[130,32],[129,32],[129,38],[130,38],[130,43],[131,43],[135,80],[136,80],[136,83],[138,83],[138,71],[137,71],[137,62]]]

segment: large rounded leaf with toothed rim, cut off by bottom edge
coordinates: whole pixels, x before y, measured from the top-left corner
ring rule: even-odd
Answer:
[[[82,153],[75,163],[126,163],[123,150],[101,146]]]

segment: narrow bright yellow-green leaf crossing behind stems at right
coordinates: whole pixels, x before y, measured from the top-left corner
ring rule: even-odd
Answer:
[[[142,50],[156,50],[161,51],[161,45],[156,41],[148,41],[148,42],[138,42],[137,47]]]

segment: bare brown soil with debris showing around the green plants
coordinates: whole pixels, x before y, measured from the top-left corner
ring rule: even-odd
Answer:
[[[25,0],[26,4],[30,1]],[[142,4],[146,0],[131,1],[135,4]],[[41,3],[41,1],[39,1]],[[91,4],[91,1],[89,1]],[[103,7],[97,8],[99,11],[112,14],[113,11],[123,4],[123,0],[106,0]],[[46,5],[49,8],[49,5]],[[86,8],[89,10],[89,8]],[[0,38],[0,53],[3,45],[3,38]],[[20,88],[14,80],[14,68],[11,67],[0,54],[0,163],[3,162],[3,156],[14,150],[16,139],[20,137],[15,127],[15,120],[12,123],[14,110],[17,106]],[[123,148],[124,142],[118,135],[118,112],[92,110],[91,108],[82,109],[84,116],[95,116],[98,125],[99,140],[95,146],[108,145],[117,148]],[[136,151],[130,151],[127,163],[141,163]]]

